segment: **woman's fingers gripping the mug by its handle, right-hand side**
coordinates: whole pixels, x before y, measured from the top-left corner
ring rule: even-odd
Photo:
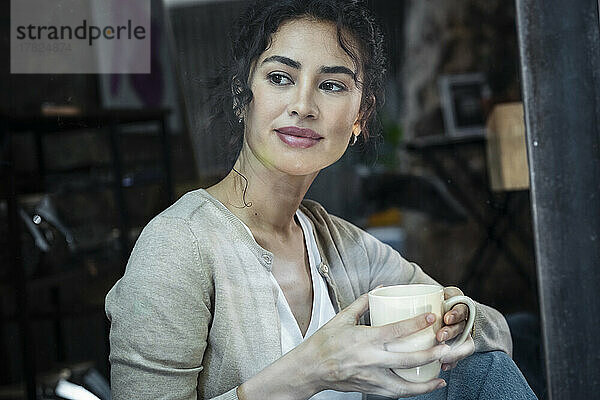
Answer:
[[[457,287],[450,286],[444,288],[444,298],[447,300],[455,296],[464,296],[462,290]],[[450,311],[444,314],[444,326],[437,332],[437,340],[440,343],[445,343],[448,340],[460,336],[465,330],[467,319],[469,318],[469,307],[464,304],[457,304]],[[467,358],[475,351],[475,343],[471,335],[467,336],[467,340],[461,345],[451,347],[444,357],[441,358],[442,370],[449,371],[456,367],[456,364],[463,358]]]

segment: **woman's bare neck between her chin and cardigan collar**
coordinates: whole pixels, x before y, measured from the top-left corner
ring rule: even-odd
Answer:
[[[255,235],[290,235],[296,227],[296,210],[318,172],[291,176],[261,163],[244,162],[244,150],[234,169],[206,190]]]

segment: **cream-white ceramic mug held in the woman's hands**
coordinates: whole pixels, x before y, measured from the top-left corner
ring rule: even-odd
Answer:
[[[436,317],[433,325],[394,341],[394,351],[404,353],[427,350],[438,343],[435,335],[442,327],[444,314],[458,303],[469,307],[469,318],[465,330],[452,344],[452,346],[459,346],[467,340],[467,336],[473,328],[475,303],[467,296],[455,296],[444,300],[444,288],[437,285],[396,285],[370,291],[371,326],[387,325],[420,314],[433,313]],[[440,368],[441,363],[434,361],[420,367],[394,369],[393,371],[410,382],[427,382],[437,378]]]

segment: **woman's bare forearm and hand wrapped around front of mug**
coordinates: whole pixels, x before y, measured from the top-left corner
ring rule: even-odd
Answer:
[[[358,325],[369,308],[366,294],[338,313],[310,338],[238,388],[245,399],[306,399],[322,390],[409,397],[446,386],[443,379],[408,382],[391,368],[412,368],[440,360],[449,347],[397,353],[394,342],[435,322],[434,314],[380,327]]]

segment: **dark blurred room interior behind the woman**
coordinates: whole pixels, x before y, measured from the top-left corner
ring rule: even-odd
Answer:
[[[10,75],[0,60],[0,399],[59,398],[59,381],[107,398],[107,291],[142,227],[231,167],[203,82],[244,3],[152,0],[148,75]],[[307,197],[500,310],[544,398],[515,5],[369,3],[390,60],[382,134]]]

